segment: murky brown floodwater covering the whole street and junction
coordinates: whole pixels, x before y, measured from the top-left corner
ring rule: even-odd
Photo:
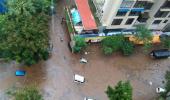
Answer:
[[[140,48],[130,57],[120,53],[106,57],[98,45],[89,47],[87,55],[72,54],[67,47],[65,26],[60,24],[63,4],[59,2],[53,16],[50,32],[53,51],[49,60],[31,67],[0,62],[0,100],[9,100],[6,89],[29,84],[36,84],[45,100],[83,100],[84,96],[108,100],[104,93],[107,86],[114,86],[120,80],[130,80],[133,100],[156,100],[155,88],[164,85],[162,81],[166,70],[170,70],[170,59],[152,60]],[[79,63],[80,57],[85,57],[88,63]],[[16,77],[17,69],[26,70],[26,76]],[[74,74],[83,75],[85,84],[75,84]]]

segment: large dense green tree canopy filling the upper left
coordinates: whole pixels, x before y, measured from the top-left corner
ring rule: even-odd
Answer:
[[[35,3],[35,0],[7,1],[8,12],[0,15],[1,58],[27,65],[48,58],[49,17],[45,11],[37,10],[45,5]]]

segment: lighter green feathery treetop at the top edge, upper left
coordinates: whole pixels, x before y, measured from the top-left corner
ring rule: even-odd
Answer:
[[[10,15],[31,16],[37,13],[48,13],[51,0],[8,0],[7,8]]]

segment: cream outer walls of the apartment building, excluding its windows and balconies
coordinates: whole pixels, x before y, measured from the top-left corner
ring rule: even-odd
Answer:
[[[128,0],[128,1],[134,1],[131,7],[133,8],[137,0]],[[165,18],[154,17],[154,15],[157,13],[157,11],[160,9],[160,7],[164,4],[166,0],[138,0],[138,1],[150,1],[154,3],[150,10],[145,11],[145,12],[149,12],[149,16],[150,16],[150,18],[145,23],[145,25],[149,29],[162,30],[168,23],[170,23],[170,17],[168,17],[170,16],[170,12],[169,15]],[[130,11],[128,11],[128,13],[125,16],[116,16],[122,2],[123,0],[105,0],[104,5],[102,6],[103,13],[102,16],[100,17],[100,21],[102,26],[106,26],[106,29],[118,29],[118,28],[134,29],[135,28],[136,22],[138,22],[137,21],[138,16],[129,16]],[[126,25],[125,23],[129,18],[134,18],[134,21],[131,25]],[[112,25],[114,19],[123,19],[123,21],[121,22],[120,25]],[[159,25],[153,25],[152,23],[155,20],[162,20],[162,21]],[[168,20],[168,22],[163,23],[165,20]]]

